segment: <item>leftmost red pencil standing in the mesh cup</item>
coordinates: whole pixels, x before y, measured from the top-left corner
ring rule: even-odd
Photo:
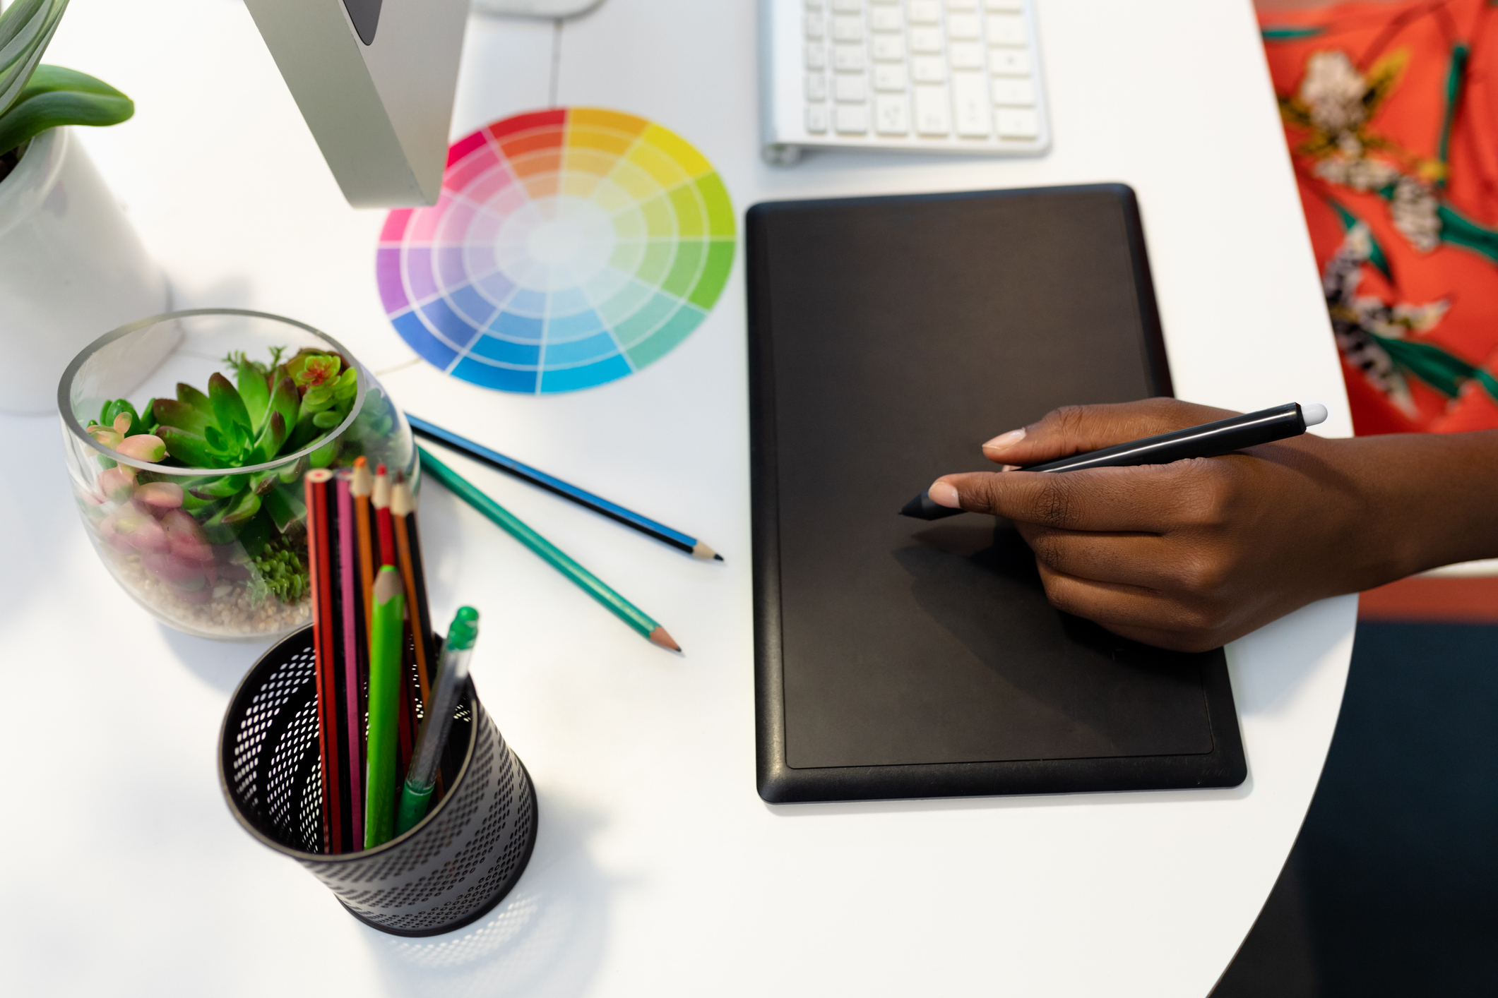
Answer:
[[[322,766],[324,851],[342,853],[342,811],[337,766],[337,658],[333,634],[333,575],[328,545],[328,482],[333,473],[313,468],[304,479],[307,492],[307,570],[312,576],[313,669],[318,690],[318,753]]]

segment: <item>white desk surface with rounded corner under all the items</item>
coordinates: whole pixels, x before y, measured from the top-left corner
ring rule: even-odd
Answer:
[[[1324,398],[1338,404],[1327,431],[1347,432],[1248,0],[1040,0],[1040,28],[1056,139],[1038,160],[762,166],[750,0],[607,0],[563,33],[560,100],[679,130],[740,211],[768,198],[1126,181],[1143,205],[1179,394],[1236,408]],[[475,22],[454,135],[542,105],[550,51],[550,25]],[[377,370],[410,356],[374,293],[382,215],[342,202],[240,3],[75,0],[48,61],[136,99],[135,121],[84,141],[180,305],[294,316]],[[1240,789],[771,808],[753,786],[742,262],[683,346],[610,386],[517,398],[424,364],[385,383],[433,420],[718,546],[725,564],[694,563],[463,465],[665,622],[686,657],[640,640],[428,489],[436,615],[460,600],[487,615],[476,681],[535,775],[541,838],[514,895],[475,926],[428,941],[382,935],[223,806],[219,720],[259,648],[147,619],[84,539],[55,419],[3,419],[7,994],[1200,998],[1212,988],[1311,800],[1354,599],[1228,649],[1249,760]]]

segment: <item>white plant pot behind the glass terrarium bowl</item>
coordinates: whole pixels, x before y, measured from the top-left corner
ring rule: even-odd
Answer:
[[[73,356],[169,311],[160,269],[67,129],[0,181],[0,411],[48,413]]]

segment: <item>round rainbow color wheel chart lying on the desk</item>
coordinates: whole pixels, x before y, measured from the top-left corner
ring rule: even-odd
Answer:
[[[661,359],[707,316],[737,244],[728,192],[659,124],[562,108],[452,144],[431,208],[389,212],[395,331],[473,385],[571,392]]]

